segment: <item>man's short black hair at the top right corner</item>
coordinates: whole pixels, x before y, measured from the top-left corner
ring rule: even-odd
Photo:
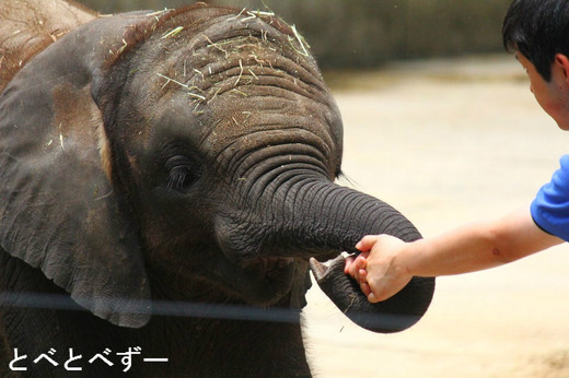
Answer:
[[[555,55],[569,56],[569,0],[514,0],[503,20],[503,47],[520,51],[545,81]]]

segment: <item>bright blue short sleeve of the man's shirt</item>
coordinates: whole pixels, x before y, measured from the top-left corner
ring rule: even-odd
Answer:
[[[539,189],[531,205],[534,222],[545,232],[569,241],[569,155],[551,181]]]

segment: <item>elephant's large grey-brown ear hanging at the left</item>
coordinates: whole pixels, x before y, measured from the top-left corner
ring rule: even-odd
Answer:
[[[112,180],[91,93],[140,14],[95,20],[30,61],[0,95],[0,246],[95,316],[150,319],[138,231]]]

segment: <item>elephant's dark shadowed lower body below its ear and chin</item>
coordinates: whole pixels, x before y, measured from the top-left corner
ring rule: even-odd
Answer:
[[[40,271],[5,252],[2,252],[1,268],[2,290],[18,292],[22,297],[14,297],[14,302],[25,304],[2,309],[2,377],[16,376],[9,367],[14,358],[13,347],[18,347],[19,355],[27,355],[14,366],[27,367],[22,373],[31,377],[303,377],[310,371],[304,358],[300,316],[294,312],[290,312],[286,322],[270,318],[267,321],[223,319],[216,312],[209,318],[207,311],[205,318],[198,318],[179,316],[185,311],[191,315],[191,311],[184,307],[176,311],[173,304],[170,310],[178,316],[153,316],[141,329],[123,328],[85,311]],[[26,302],[22,293],[34,296]],[[47,302],[45,308],[34,308],[37,295]],[[10,299],[7,296],[4,300],[7,298]],[[55,308],[49,308],[49,304]],[[231,310],[230,306],[216,308]],[[141,354],[132,357],[131,367],[125,373],[127,365],[117,353],[136,347],[141,349]],[[34,364],[36,357],[50,349],[56,350],[51,357],[58,366],[47,362]],[[69,349],[73,349],[73,355],[82,355],[70,365],[82,367],[81,374],[68,371],[63,366],[70,357]],[[89,363],[107,349],[113,366],[102,361]],[[148,357],[169,361],[144,363],[143,358]]]

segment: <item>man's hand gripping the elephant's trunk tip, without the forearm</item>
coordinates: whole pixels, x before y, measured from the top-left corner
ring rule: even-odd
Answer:
[[[390,235],[365,236],[356,245],[362,253],[347,261],[345,271],[359,282],[369,302],[388,299],[413,279],[400,262],[400,253],[407,246]]]

